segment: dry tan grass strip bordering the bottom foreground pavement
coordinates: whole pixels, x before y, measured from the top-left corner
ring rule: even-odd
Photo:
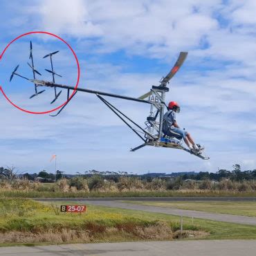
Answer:
[[[183,238],[203,238],[210,235],[208,232],[185,230],[183,232],[172,232],[170,226],[165,222],[156,223],[149,227],[134,227],[132,230],[127,228],[102,228],[101,226],[91,226],[86,230],[47,230],[42,232],[21,232],[21,231],[8,231],[0,232],[0,244],[20,244],[20,243],[89,243],[92,241],[115,241],[116,238],[124,239],[143,239],[143,240],[172,240]]]

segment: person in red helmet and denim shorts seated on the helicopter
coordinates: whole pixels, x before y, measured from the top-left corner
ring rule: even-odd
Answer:
[[[197,154],[201,154],[204,147],[201,145],[194,143],[194,140],[185,129],[181,129],[176,122],[176,113],[179,113],[181,108],[179,104],[175,101],[171,101],[167,107],[168,111],[163,116],[163,134],[171,137],[175,137],[185,141],[185,144],[188,148]]]

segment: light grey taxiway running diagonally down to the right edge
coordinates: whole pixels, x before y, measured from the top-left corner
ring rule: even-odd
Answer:
[[[81,202],[81,201],[80,201]],[[122,203],[118,201],[83,201],[85,204],[102,205],[114,208],[122,208],[129,210],[143,210],[145,212],[158,212],[171,215],[179,215],[183,217],[194,217],[199,219],[210,219],[212,221],[225,221],[231,223],[239,223],[256,226],[256,217],[246,217],[233,214],[221,214],[212,212],[199,212],[195,210],[181,210],[176,208],[138,205],[133,203]],[[256,255],[256,253],[255,253]]]

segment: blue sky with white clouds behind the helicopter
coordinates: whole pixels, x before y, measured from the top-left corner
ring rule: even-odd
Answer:
[[[178,123],[209,161],[176,149],[144,147],[141,141],[95,95],[77,93],[60,116],[30,114],[13,107],[0,93],[0,166],[19,172],[68,174],[88,170],[146,172],[217,172],[238,163],[255,169],[256,161],[256,2],[253,0],[56,0],[1,1],[0,48],[21,34],[46,31],[62,37],[80,64],[79,87],[139,97],[158,85],[179,52],[187,60],[172,78],[166,102],[181,104]],[[29,99],[33,84],[29,42],[35,66],[45,80],[51,68],[44,55],[54,55],[56,82],[74,86],[77,64],[71,50],[55,37],[28,35],[15,41],[0,61],[0,85],[8,98],[30,111],[48,111],[66,99],[53,91]],[[39,79],[41,77],[38,77]],[[109,99],[140,125],[149,106]]]

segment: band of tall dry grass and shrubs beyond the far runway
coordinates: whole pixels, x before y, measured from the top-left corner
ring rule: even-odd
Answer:
[[[77,176],[72,179],[60,179],[56,183],[33,183],[19,179],[9,183],[1,181],[0,193],[4,196],[19,197],[83,197],[83,196],[172,196],[187,194],[188,196],[255,196],[256,181],[231,181],[222,179],[219,182],[183,181],[181,177],[165,181],[153,179],[141,181],[138,178],[121,176],[117,182],[105,181],[102,176],[95,175],[88,179]],[[151,193],[151,195],[149,195]],[[162,194],[163,193],[163,194]],[[20,194],[20,195],[19,195]],[[27,195],[26,195],[27,194]],[[47,196],[49,194],[49,196]],[[50,195],[51,194],[51,195]],[[147,195],[148,194],[148,195]]]

